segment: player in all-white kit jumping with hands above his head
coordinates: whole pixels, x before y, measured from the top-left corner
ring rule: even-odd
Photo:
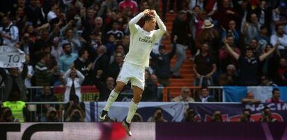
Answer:
[[[143,28],[136,24],[142,17],[144,20]],[[158,30],[155,30],[156,23],[159,26]],[[128,117],[123,121],[125,132],[131,136],[130,123],[134,113],[137,111],[139,101],[141,100],[141,93],[144,89],[145,67],[149,66],[150,52],[153,49],[155,41],[166,32],[166,26],[164,26],[164,23],[155,10],[148,9],[137,14],[128,24],[130,28],[130,50],[125,57],[125,62],[116,80],[116,87],[110,93],[110,97],[107,99],[105,108],[103,108],[99,118],[101,121],[105,120],[107,111],[118,97],[119,92],[121,92],[123,86],[125,86],[128,81],[131,81],[133,98],[130,102]]]

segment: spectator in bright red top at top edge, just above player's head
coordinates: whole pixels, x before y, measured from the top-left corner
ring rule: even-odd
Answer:
[[[134,16],[138,12],[137,2],[135,2],[133,0],[121,1],[119,3],[119,10],[121,12],[132,11],[132,16]]]

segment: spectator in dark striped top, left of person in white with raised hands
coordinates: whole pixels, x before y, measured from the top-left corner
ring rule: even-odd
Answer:
[[[44,52],[37,52],[36,55],[40,58],[40,61],[35,66],[35,86],[50,85],[53,74],[57,71],[58,67],[55,66],[49,70],[46,65],[49,55]]]

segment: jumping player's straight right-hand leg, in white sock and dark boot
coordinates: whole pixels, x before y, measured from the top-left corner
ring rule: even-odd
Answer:
[[[139,101],[141,101],[141,94],[143,93],[143,89],[137,86],[132,86],[132,90],[133,90],[133,97],[132,101],[130,101],[130,107],[128,108],[128,116],[125,119],[125,121],[123,121],[125,132],[129,136],[132,136],[132,132],[130,131],[130,123],[132,122],[132,117],[134,117],[134,113],[137,112]]]

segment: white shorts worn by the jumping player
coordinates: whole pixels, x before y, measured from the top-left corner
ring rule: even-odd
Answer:
[[[132,86],[137,86],[144,90],[144,67],[124,62],[121,72],[116,81],[121,81],[125,84],[130,81]]]

